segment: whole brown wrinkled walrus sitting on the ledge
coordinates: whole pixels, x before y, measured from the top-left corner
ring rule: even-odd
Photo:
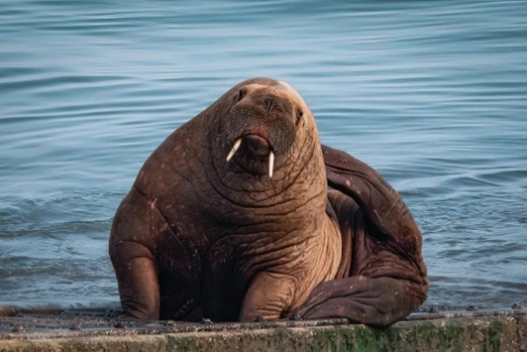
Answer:
[[[304,100],[272,79],[235,86],[174,131],[110,238],[124,315],[185,321],[387,326],[426,299],[420,248],[397,192],[321,145]]]

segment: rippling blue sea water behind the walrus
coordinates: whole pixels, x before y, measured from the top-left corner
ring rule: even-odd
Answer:
[[[1,0],[0,304],[118,302],[140,167],[262,76],[401,192],[429,304],[527,303],[527,2]]]

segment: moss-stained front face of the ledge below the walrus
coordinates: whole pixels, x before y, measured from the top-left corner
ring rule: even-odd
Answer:
[[[108,336],[28,334],[0,340],[0,351],[527,351],[527,315],[509,312],[414,319],[386,330],[326,321]]]

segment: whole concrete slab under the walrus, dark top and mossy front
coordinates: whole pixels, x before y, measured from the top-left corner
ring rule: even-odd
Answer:
[[[118,320],[119,310],[10,312],[12,316],[0,318],[2,352],[527,351],[527,311],[523,309],[426,309],[384,330],[344,319],[196,324]]]

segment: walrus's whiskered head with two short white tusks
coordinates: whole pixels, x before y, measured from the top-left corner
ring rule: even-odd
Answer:
[[[301,149],[310,152],[306,147],[317,144],[313,115],[287,83],[253,79],[226,95],[230,104],[221,115],[217,151],[232,168],[271,179],[275,170],[297,161]]]

